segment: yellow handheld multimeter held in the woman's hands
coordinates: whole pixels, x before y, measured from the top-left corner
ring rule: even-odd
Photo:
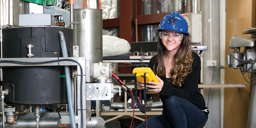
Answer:
[[[146,83],[149,83],[151,81],[159,83],[160,81],[157,79],[153,71],[149,67],[136,67],[133,69],[133,74],[136,74],[137,81],[140,83],[145,83],[144,81],[144,74],[146,77]],[[153,85],[153,84],[152,84]],[[147,92],[149,94],[153,94],[151,92]]]

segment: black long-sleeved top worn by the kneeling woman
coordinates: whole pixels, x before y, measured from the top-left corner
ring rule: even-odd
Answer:
[[[187,75],[187,79],[182,84],[180,88],[174,86],[172,83],[167,82],[166,77],[160,77],[163,80],[163,88],[158,93],[163,102],[163,112],[166,113],[165,99],[169,98],[170,95],[177,95],[184,99],[187,99],[200,110],[204,110],[207,119],[208,119],[208,108],[205,106],[205,100],[203,95],[199,92],[198,81],[201,73],[201,59],[197,53],[193,51],[192,56],[194,58],[192,62],[192,72]],[[157,55],[154,55],[149,62],[149,67],[153,69],[154,61],[156,60]],[[155,72],[155,71],[154,71]],[[157,75],[157,74],[156,74]],[[168,79],[168,78],[167,78]],[[143,94],[143,93],[142,93]],[[150,98],[150,94],[147,94],[147,98]]]

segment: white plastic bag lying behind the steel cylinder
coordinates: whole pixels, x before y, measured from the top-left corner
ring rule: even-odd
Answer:
[[[102,36],[103,57],[127,54],[131,46],[128,41],[111,35]]]

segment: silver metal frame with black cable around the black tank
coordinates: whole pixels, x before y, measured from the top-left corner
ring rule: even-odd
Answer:
[[[86,60],[85,57],[61,57],[61,58],[1,58],[1,61],[21,61],[21,62],[45,62],[45,61],[54,61],[54,60],[61,60],[61,59],[72,59],[80,63],[82,66],[82,71],[83,71],[83,76],[85,78],[82,81],[82,85],[85,85],[86,80],[90,79],[90,68],[86,68],[86,66],[90,67],[90,60]],[[60,61],[60,62],[54,62],[54,63],[47,63],[47,64],[39,64],[39,65],[23,65],[23,64],[15,64],[15,63],[0,63],[0,67],[12,67],[12,66],[75,66],[77,67],[77,74],[81,75],[80,67],[78,66],[77,63],[73,61]],[[89,74],[89,75],[86,75]],[[78,127],[81,127],[81,97],[80,97],[80,87],[81,87],[81,77],[77,78],[77,111],[78,111]],[[82,86],[82,99],[85,101],[85,86]],[[83,102],[82,101],[82,102]],[[90,105],[90,104],[89,104]],[[91,113],[90,111],[87,110],[87,102],[83,102],[83,127],[86,127],[86,113]],[[86,110],[86,111],[85,111]],[[90,115],[90,114],[89,114]],[[89,118],[90,120],[90,118]]]

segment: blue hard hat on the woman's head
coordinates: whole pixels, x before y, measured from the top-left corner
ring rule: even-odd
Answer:
[[[188,32],[189,27],[187,25],[186,19],[175,11],[163,17],[157,30],[172,30],[178,31],[180,33],[186,33],[188,36],[190,35]]]

